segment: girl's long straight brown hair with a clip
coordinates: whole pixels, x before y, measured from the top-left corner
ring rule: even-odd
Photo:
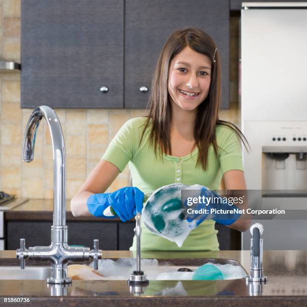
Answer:
[[[173,58],[185,47],[190,47],[194,51],[208,56],[212,61],[215,54],[215,62],[212,63],[209,93],[198,106],[194,126],[195,144],[199,150],[196,166],[201,166],[206,170],[210,144],[213,145],[215,155],[218,157],[218,145],[215,137],[216,125],[228,126],[234,130],[239,139],[244,143],[246,150],[246,143],[248,144],[248,141],[238,127],[218,117],[221,99],[219,51],[216,51],[217,47],[213,39],[200,29],[187,28],[177,30],[171,34],[165,43],[156,66],[154,77],[152,78],[148,101],[150,110],[144,123],[140,143],[151,120],[149,142],[150,145],[154,146],[156,157],[158,152],[160,152],[161,159],[164,152],[170,152],[170,155],[172,155],[170,137],[172,107],[168,92],[169,70]]]

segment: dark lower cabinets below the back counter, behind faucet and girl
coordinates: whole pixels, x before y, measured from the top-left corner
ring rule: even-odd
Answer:
[[[93,247],[93,239],[99,239],[102,250],[129,250],[134,236],[135,222],[105,222],[68,220],[68,244]],[[20,247],[20,239],[26,239],[26,247],[49,246],[51,242],[50,220],[5,221],[6,249],[16,250]],[[240,250],[241,232],[215,223],[220,250]]]

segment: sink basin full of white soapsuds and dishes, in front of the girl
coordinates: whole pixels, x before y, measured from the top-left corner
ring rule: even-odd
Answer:
[[[222,258],[141,259],[141,270],[144,271],[148,280],[192,280],[195,271],[204,264],[210,264],[211,267],[216,265],[223,273],[222,278],[205,274],[207,280],[212,280],[211,276],[215,280],[240,279],[247,275],[239,262]],[[93,263],[89,266],[69,265],[68,276],[81,280],[127,280],[135,270],[135,265],[133,258],[102,259],[98,261],[97,271],[93,269]],[[205,279],[198,278],[198,280]]]

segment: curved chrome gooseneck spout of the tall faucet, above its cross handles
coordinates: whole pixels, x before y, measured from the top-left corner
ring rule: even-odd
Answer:
[[[35,136],[38,126],[45,118],[52,140],[54,189],[53,189],[53,225],[65,226],[66,193],[66,156],[62,127],[56,112],[49,106],[37,107],[27,123],[23,142],[23,161],[32,162],[34,158]]]

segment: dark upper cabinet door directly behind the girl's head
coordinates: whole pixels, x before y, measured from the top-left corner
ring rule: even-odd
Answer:
[[[222,59],[221,107],[229,106],[229,2],[225,0],[129,0],[125,2],[124,106],[144,108],[152,74],[168,36],[197,27],[215,40]],[[146,86],[146,93],[140,91]]]

